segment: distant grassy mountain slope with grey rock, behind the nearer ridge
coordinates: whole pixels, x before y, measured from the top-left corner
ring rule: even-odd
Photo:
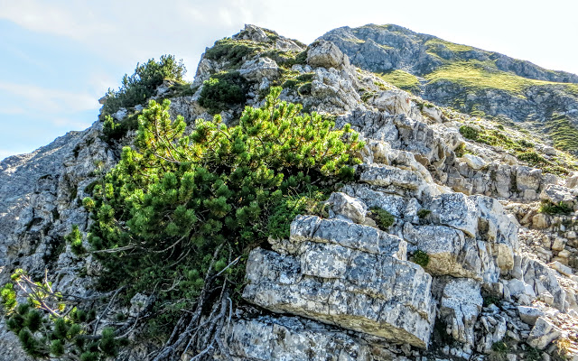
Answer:
[[[324,34],[351,62],[398,88],[473,116],[514,121],[578,152],[578,76],[397,25]]]

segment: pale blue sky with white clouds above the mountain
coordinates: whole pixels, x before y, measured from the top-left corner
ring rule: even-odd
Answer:
[[[98,98],[139,61],[172,53],[192,79],[205,47],[244,23],[307,43],[339,26],[396,23],[578,73],[573,3],[0,0],[0,159],[88,127]]]

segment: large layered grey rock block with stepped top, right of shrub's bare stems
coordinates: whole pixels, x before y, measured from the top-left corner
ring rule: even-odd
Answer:
[[[432,277],[406,261],[397,236],[340,219],[295,218],[285,255],[262,248],[247,260],[243,297],[288,312],[427,347],[435,305]]]

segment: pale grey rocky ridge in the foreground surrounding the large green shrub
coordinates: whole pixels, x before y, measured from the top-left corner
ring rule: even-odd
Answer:
[[[284,99],[335,116],[338,126],[350,123],[366,147],[358,180],[331,195],[324,218],[299,216],[288,239],[269,239],[270,249],[251,252],[243,297],[253,306],[234,310],[223,336],[229,355],[217,359],[536,360],[578,353],[578,176],[564,179],[508,148],[464,138],[463,125],[499,128],[356,69],[331,42],[305,49],[251,25],[233,41],[263,49],[235,67],[205,55],[195,94],[172,98],[175,115],[189,123],[208,116],[198,104],[202,80],[223,69],[250,82],[250,106],[271,85],[306,79],[285,87]],[[279,53],[306,57],[290,64],[274,60]],[[221,116],[234,122],[237,112],[231,107]],[[102,142],[100,134],[97,122],[0,163],[3,281],[15,267],[36,274],[48,267],[60,274],[55,288],[89,292],[96,264],[71,255],[61,237],[72,224],[86,229],[79,199],[118,160],[119,144]],[[575,166],[568,154],[547,154],[537,140],[533,147],[549,162]],[[561,202],[568,214],[544,211]],[[379,229],[376,208],[387,210],[393,224]],[[419,252],[429,261],[417,264]],[[88,278],[71,272],[79,269]],[[1,325],[0,359],[26,359]],[[154,345],[136,341],[140,346],[119,359],[146,359]]]

